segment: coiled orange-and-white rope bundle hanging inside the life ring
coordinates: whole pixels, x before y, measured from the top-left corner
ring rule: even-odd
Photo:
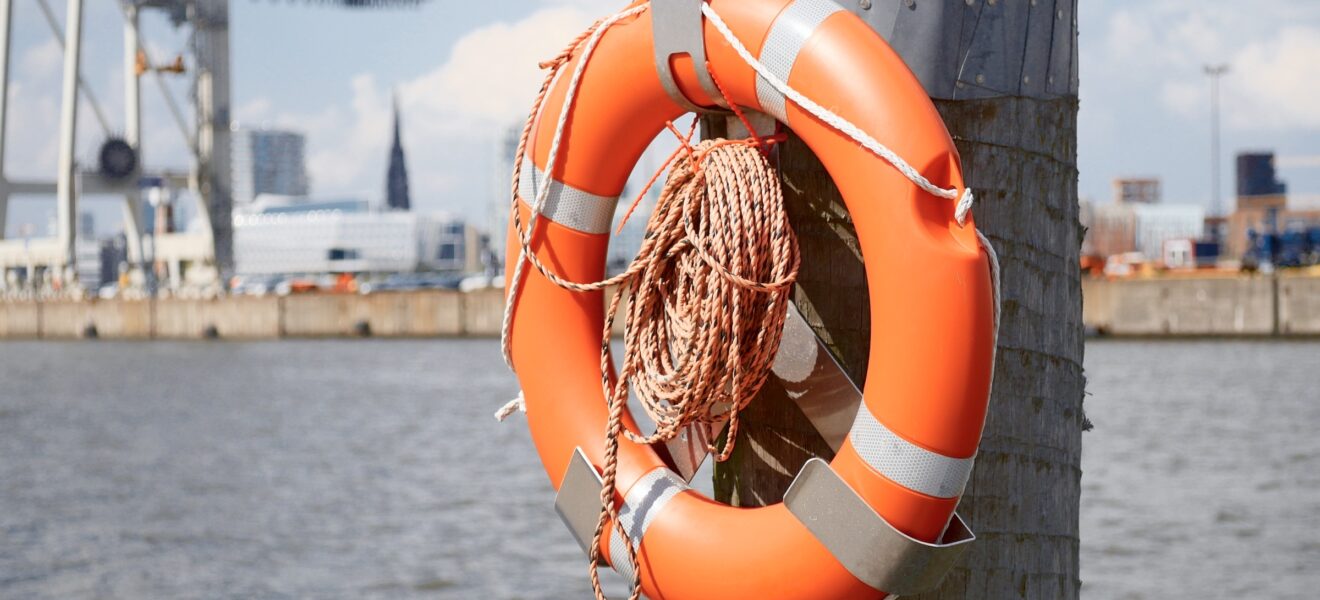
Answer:
[[[770,375],[797,280],[797,237],[779,177],[759,145],[706,140],[693,149],[669,171],[631,276],[610,299],[602,332],[601,372],[609,373],[609,334],[628,294],[618,382],[602,376],[610,419],[601,520],[591,542],[597,597],[603,597],[595,572],[601,538],[611,520],[618,524],[619,436],[649,444],[693,425],[727,421],[726,443],[709,448],[717,460],[726,460],[738,435],[738,411]],[[630,390],[655,419],[653,434],[623,427]],[[639,578],[634,568],[634,600],[640,595]]]

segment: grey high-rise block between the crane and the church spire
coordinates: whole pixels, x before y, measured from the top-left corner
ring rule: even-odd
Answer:
[[[232,133],[234,206],[251,204],[261,194],[308,195],[302,133],[264,128]]]

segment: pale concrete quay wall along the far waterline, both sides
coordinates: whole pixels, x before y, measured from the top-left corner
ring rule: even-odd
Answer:
[[[1320,336],[1316,273],[1088,277],[1082,295],[1084,323],[1104,335]],[[503,310],[500,289],[0,301],[0,339],[498,338]]]

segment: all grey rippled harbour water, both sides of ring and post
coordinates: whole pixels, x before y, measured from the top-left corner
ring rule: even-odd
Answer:
[[[1086,373],[1085,597],[1320,588],[1320,343]],[[492,340],[0,343],[0,597],[586,597],[515,393]]]

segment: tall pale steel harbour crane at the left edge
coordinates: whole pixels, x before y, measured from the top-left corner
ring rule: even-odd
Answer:
[[[230,189],[230,0],[96,0],[117,3],[124,20],[125,115],[121,135],[110,133],[104,112],[81,76],[84,0],[67,0],[62,33],[49,0],[37,0],[51,33],[63,46],[59,154],[53,181],[15,179],[4,171],[13,1],[0,0],[0,289],[11,281],[22,281],[26,286],[49,281],[54,289],[79,289],[75,223],[78,199],[83,194],[123,198],[129,270],[141,273],[147,258],[140,223],[141,199],[143,191],[152,189],[160,190],[149,194],[157,198],[168,198],[173,190],[190,190],[198,202],[197,214],[203,224],[201,231],[193,232],[158,228],[150,237],[152,260],[168,265],[170,278],[176,282],[185,269],[190,281],[223,281],[223,276],[232,272],[234,256]],[[417,5],[422,1],[425,0],[319,0],[306,4],[375,9]],[[182,57],[160,63],[149,57],[139,28],[139,16],[144,11],[161,11],[176,28],[190,29],[191,73],[187,73],[189,67]],[[191,152],[187,173],[153,171],[139,160],[143,144],[141,78],[148,73],[160,83],[166,105],[187,140]],[[165,86],[162,76],[166,74],[191,75],[191,123]],[[74,157],[79,94],[107,135],[98,152],[96,165],[90,167],[78,165]],[[53,237],[4,239],[9,198],[20,194],[54,195],[58,207]]]

